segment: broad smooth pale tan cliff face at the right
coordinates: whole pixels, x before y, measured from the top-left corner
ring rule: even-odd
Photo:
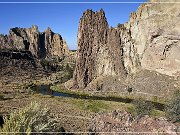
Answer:
[[[163,2],[155,0],[159,1]],[[179,4],[142,4],[125,25],[131,31],[142,68],[179,76]]]

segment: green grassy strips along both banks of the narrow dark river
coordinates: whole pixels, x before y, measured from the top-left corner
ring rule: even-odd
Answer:
[[[57,92],[61,92],[61,93],[66,93],[66,94],[75,94],[78,96],[87,96],[87,97],[93,97],[93,96],[97,96],[97,97],[106,97],[109,99],[129,99],[129,100],[134,100],[134,101],[138,101],[139,99],[144,100],[145,102],[148,103],[160,103],[160,104],[164,104],[165,101],[161,101],[158,98],[153,98],[152,100],[145,100],[141,97],[138,96],[132,96],[132,95],[127,95],[127,96],[119,96],[119,95],[114,95],[114,94],[107,94],[107,95],[103,95],[103,96],[99,96],[99,95],[93,95],[92,93],[88,93],[87,91],[77,91],[77,90],[67,90],[64,89],[60,84],[54,85],[51,87],[52,90],[57,91]],[[82,108],[84,110],[90,110],[92,112],[99,112],[99,111],[107,111],[107,110],[114,110],[116,107],[114,107],[114,105],[116,104],[116,106],[118,105],[117,109],[120,110],[126,110],[130,113],[132,113],[133,115],[138,115],[137,114],[137,110],[136,110],[136,105],[134,105],[134,103],[123,103],[123,102],[115,102],[115,101],[105,101],[105,100],[92,100],[92,99],[72,99],[73,103],[75,105],[78,106],[78,108]],[[161,102],[158,102],[161,101]],[[107,102],[111,102],[111,104],[107,104]],[[106,104],[105,104],[106,103]],[[112,105],[113,103],[113,105]],[[154,108],[151,110],[150,116],[152,117],[165,117],[165,113],[163,111],[158,110],[157,108]]]

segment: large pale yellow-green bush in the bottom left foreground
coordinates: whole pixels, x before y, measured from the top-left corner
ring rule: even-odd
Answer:
[[[5,124],[0,129],[0,132],[4,132],[4,134],[9,134],[9,132],[24,132],[26,134],[52,132],[57,128],[57,122],[49,110],[36,102],[11,113],[9,117],[5,117],[4,121]]]

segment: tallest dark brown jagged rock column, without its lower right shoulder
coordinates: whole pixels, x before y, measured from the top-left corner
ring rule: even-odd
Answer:
[[[74,86],[85,88],[97,77],[97,59],[100,48],[107,43],[108,23],[103,10],[84,12],[78,28],[78,51],[74,72]]]

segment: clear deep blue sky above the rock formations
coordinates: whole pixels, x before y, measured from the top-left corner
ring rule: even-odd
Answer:
[[[2,2],[1,0],[0,2]],[[15,0],[4,0],[4,2]],[[58,0],[16,0],[23,2],[52,2]],[[62,0],[67,2],[67,0]],[[59,0],[59,2],[62,2]],[[105,2],[110,0],[68,0],[69,2]],[[143,2],[146,0],[111,0],[114,2]],[[76,37],[79,19],[86,9],[105,11],[109,26],[116,26],[129,20],[131,12],[136,11],[140,3],[125,4],[2,4],[0,3],[0,33],[7,34],[10,28],[28,28],[37,25],[43,32],[50,27],[53,32],[61,34],[70,49],[76,49]]]

